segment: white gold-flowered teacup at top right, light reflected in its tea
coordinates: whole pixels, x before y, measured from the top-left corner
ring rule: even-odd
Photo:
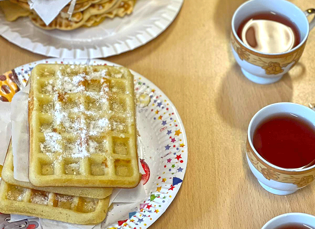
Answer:
[[[283,53],[263,53],[246,46],[237,35],[238,27],[247,17],[260,12],[286,15],[298,27],[301,42]],[[285,0],[250,0],[238,7],[232,17],[231,45],[233,55],[243,74],[249,80],[260,84],[280,80],[300,59],[308,33],[315,26],[315,18],[308,23],[306,17],[314,13],[315,9],[303,12],[293,3]]]

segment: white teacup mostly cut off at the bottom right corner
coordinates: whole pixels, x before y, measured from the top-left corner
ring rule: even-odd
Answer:
[[[305,223],[307,226],[315,228],[315,216],[305,213],[287,213],[278,215],[266,222],[266,224],[261,229],[274,229],[278,226],[289,223]]]

